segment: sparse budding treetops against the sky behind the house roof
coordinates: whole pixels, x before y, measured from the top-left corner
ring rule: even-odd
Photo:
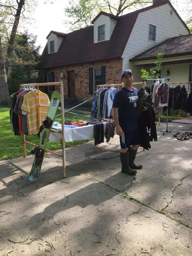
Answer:
[[[91,26],[91,21],[100,11],[120,16],[129,11],[150,6],[152,2],[153,0],[69,0],[68,6],[64,9],[67,17],[65,25],[69,27],[69,31],[74,31]],[[185,22],[190,26],[192,23],[190,6],[192,0],[170,0],[170,2],[176,9],[178,5],[183,6],[180,14],[186,17]]]

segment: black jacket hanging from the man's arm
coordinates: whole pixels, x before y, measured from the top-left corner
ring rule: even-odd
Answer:
[[[138,111],[138,113],[138,126],[141,136],[141,147],[149,150],[151,148],[150,141],[157,141],[155,112],[149,103],[142,102],[140,105],[140,111]]]

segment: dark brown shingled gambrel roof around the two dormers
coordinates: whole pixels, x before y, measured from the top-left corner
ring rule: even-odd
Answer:
[[[90,26],[67,34],[63,38],[61,46],[56,53],[48,54],[46,44],[42,53],[42,63],[39,69],[121,58],[138,14],[167,3],[171,5],[171,3],[166,0],[163,3],[151,5],[118,17],[119,20],[108,41],[94,43],[94,28]],[[173,8],[172,5],[171,7]],[[107,15],[109,16],[109,14]]]

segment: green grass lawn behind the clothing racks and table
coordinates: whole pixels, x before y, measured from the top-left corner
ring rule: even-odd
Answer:
[[[83,115],[85,117],[90,118],[90,115],[85,113],[81,113],[78,111],[72,111],[76,114]],[[61,113],[61,110],[58,110],[58,114]],[[73,115],[70,113],[65,113],[65,120],[86,120],[86,118],[79,117],[77,115]],[[61,115],[55,118],[55,121],[61,123]],[[34,143],[38,145],[39,139],[37,136],[25,136],[26,141]],[[83,141],[74,141],[74,142],[66,142],[66,147],[78,145],[83,143]],[[11,159],[15,157],[22,157],[23,156],[23,145],[22,145],[22,136],[15,136],[14,132],[11,131],[11,124],[9,118],[9,108],[0,107],[0,160],[3,159]],[[31,149],[33,146],[29,146],[26,144],[26,155],[30,154]],[[57,142],[48,142],[47,149],[54,150],[54,149],[61,149],[60,141]]]

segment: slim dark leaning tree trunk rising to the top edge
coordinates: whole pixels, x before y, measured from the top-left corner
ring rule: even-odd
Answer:
[[[19,25],[19,19],[20,19],[20,15],[21,15],[21,10],[24,6],[24,3],[25,3],[25,0],[20,0],[18,2],[17,12],[16,12],[16,15],[15,15],[15,20],[14,20],[12,31],[11,31],[11,36],[10,36],[10,39],[9,39],[9,45],[8,45],[8,48],[7,48],[7,57],[6,57],[6,63],[5,63],[7,74],[9,72],[9,57],[11,56],[11,53],[13,52],[15,35],[17,33],[17,28],[18,28],[18,25]]]

